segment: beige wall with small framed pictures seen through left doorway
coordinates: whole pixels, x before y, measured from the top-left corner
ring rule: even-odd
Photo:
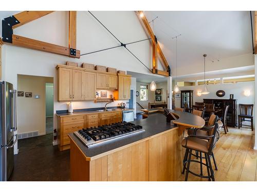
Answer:
[[[19,75],[17,91],[24,91],[24,97],[17,97],[17,133],[38,131],[46,133],[46,82],[53,78]],[[32,97],[25,97],[25,92],[32,92]],[[40,95],[35,99],[34,95]]]

